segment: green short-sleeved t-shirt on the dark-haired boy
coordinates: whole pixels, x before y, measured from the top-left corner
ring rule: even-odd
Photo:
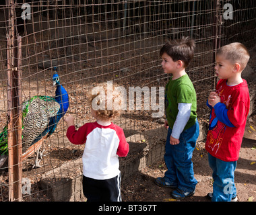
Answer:
[[[189,76],[183,75],[172,80],[165,87],[165,110],[168,126],[172,129],[178,115],[178,103],[192,103],[189,121],[184,130],[195,124],[197,118],[197,96]]]

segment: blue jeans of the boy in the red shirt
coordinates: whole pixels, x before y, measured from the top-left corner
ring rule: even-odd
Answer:
[[[212,202],[230,202],[232,198],[236,197],[236,186],[234,185],[236,161],[222,161],[210,153],[208,153],[208,160],[214,179]]]

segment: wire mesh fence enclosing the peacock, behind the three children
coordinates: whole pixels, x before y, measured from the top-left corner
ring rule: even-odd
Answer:
[[[39,149],[32,148],[27,157],[21,152],[26,128],[25,122],[18,123],[19,114],[34,99],[47,101],[48,108],[51,98],[55,97],[55,71],[69,95],[67,112],[75,116],[77,128],[94,120],[88,98],[99,83],[113,81],[127,93],[137,89],[136,93],[127,95],[127,103],[129,99],[136,103],[136,95],[142,93],[141,109],[127,107],[114,121],[123,128],[130,144],[129,155],[120,159],[122,177],[126,179],[164,155],[164,116],[152,117],[160,109],[152,110],[151,106],[147,109],[143,105],[151,95],[147,93],[153,93],[154,87],[156,100],[160,101],[161,87],[170,79],[162,71],[159,54],[162,45],[181,36],[195,40],[195,56],[187,73],[197,92],[201,132],[198,141],[203,141],[209,118],[205,101],[216,85],[215,53],[220,46],[242,42],[249,49],[251,58],[243,76],[254,101],[255,21],[254,0],[1,1],[0,140],[6,142],[13,135],[17,141],[12,146],[7,145],[5,154],[3,151],[0,154],[0,201],[83,199],[81,157],[84,145],[73,145],[67,140],[67,126],[62,118],[53,134],[41,140]],[[17,82],[19,75],[20,83]],[[31,111],[36,112],[41,107],[39,103]],[[41,115],[38,122],[27,123],[30,126],[42,124],[43,119]],[[40,129],[39,126],[32,130]],[[27,141],[32,141],[31,138],[29,136]],[[8,163],[8,150],[12,156],[20,153],[20,160],[13,164],[9,158]],[[33,168],[36,159],[40,159],[39,168]],[[20,171],[15,173],[20,176],[13,178],[13,171]]]

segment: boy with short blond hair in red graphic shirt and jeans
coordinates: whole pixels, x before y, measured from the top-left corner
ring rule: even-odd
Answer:
[[[238,42],[222,46],[216,56],[216,75],[220,79],[211,92],[211,108],[205,149],[213,170],[213,202],[235,202],[234,170],[239,157],[250,107],[247,81],[241,73],[249,61],[247,48]]]

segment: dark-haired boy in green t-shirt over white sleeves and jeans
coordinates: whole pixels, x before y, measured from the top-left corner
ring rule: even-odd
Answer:
[[[172,73],[166,85],[165,106],[168,128],[164,161],[167,171],[155,182],[174,189],[171,196],[183,200],[195,193],[197,180],[191,161],[199,136],[197,97],[185,68],[193,58],[195,43],[189,38],[171,40],[160,50],[164,73]]]

